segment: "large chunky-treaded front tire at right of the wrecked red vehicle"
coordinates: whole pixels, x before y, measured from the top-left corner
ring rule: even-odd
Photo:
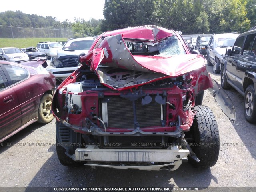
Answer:
[[[190,131],[194,138],[192,150],[199,158],[196,162],[189,158],[190,163],[196,168],[209,168],[216,164],[220,151],[220,136],[215,116],[207,106],[194,106],[196,110]]]

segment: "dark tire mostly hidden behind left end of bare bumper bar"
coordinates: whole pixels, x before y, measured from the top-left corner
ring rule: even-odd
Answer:
[[[64,166],[78,167],[78,166],[84,165],[84,163],[76,162],[76,161],[72,160],[72,158],[70,158],[69,156],[66,155],[66,149],[61,146],[60,142],[58,141],[57,136],[56,136],[56,152],[57,152],[57,156],[58,156],[60,163]]]

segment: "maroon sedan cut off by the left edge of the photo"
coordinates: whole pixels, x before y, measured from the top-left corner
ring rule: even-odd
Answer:
[[[45,64],[0,61],[0,142],[33,122],[52,121],[55,77],[42,67]]]

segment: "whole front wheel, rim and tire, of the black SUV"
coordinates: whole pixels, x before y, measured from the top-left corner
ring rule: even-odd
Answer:
[[[244,115],[248,122],[256,123],[256,95],[253,85],[249,85],[244,94]]]

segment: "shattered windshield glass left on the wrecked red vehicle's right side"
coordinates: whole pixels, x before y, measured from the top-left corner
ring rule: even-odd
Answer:
[[[157,44],[157,48],[159,50],[158,56],[162,57],[186,54],[181,42],[177,39],[176,36],[171,36],[162,40]]]

